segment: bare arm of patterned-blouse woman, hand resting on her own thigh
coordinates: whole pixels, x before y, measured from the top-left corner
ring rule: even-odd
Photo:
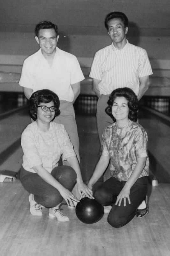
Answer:
[[[132,174],[129,177],[129,180],[126,181],[124,187],[122,188],[121,192],[117,196],[117,200],[115,204],[118,204],[118,206],[121,205],[122,199],[124,201],[124,206],[126,206],[126,198],[128,199],[128,202],[130,204],[130,188],[133,186],[133,184],[137,181],[139,178],[141,172],[144,169],[144,166],[146,164],[146,157],[139,157],[137,158],[137,164],[132,172]]]

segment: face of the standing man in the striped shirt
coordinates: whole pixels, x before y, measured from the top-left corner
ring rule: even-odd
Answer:
[[[128,27],[125,28],[124,23],[121,19],[115,18],[108,21],[108,34],[112,39],[115,47],[119,48],[120,45],[124,47],[126,44],[126,34]]]

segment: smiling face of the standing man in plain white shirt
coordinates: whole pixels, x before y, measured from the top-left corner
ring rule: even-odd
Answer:
[[[35,40],[40,45],[45,57],[55,54],[58,38],[54,28],[40,29],[38,37],[35,36]]]

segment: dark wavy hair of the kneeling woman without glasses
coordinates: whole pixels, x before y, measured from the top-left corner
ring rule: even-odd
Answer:
[[[128,101],[128,117],[131,121],[136,122],[138,117],[138,100],[136,94],[128,87],[115,89],[110,94],[109,100],[107,101],[108,107],[105,109],[107,115],[109,115],[114,122],[116,121],[115,117],[112,115],[112,106],[117,97],[124,97]]]

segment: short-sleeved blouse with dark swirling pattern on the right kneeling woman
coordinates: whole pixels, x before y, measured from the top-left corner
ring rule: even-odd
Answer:
[[[140,124],[129,120],[126,126],[119,128],[115,122],[105,129],[102,139],[101,155],[110,156],[112,177],[128,180],[139,157],[147,157],[139,178],[149,175],[147,133]]]

